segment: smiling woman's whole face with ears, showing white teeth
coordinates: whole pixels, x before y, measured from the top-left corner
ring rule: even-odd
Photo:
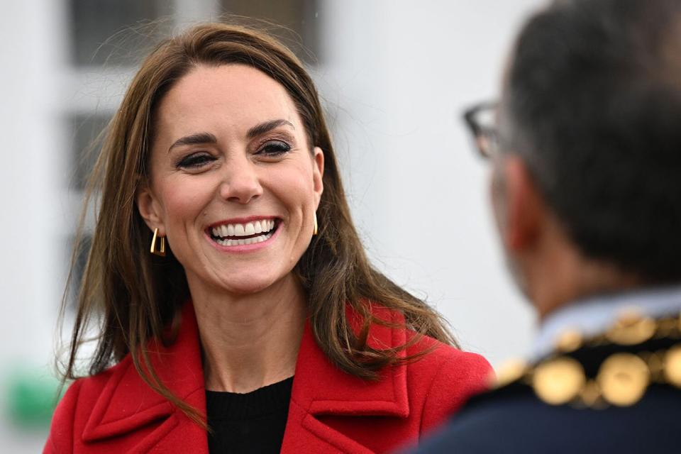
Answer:
[[[192,291],[253,293],[292,272],[323,189],[306,137],[284,87],[245,65],[196,67],[160,101],[138,207]]]

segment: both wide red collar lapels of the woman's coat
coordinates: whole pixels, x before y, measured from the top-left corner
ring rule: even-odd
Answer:
[[[372,309],[376,316],[389,323],[401,323],[399,314],[386,309]],[[375,348],[391,348],[406,341],[404,329],[373,325],[369,343]],[[201,348],[196,316],[191,303],[182,309],[182,323],[177,340],[170,346],[152,342],[150,360],[166,386],[180,399],[202,413],[206,411]],[[201,447],[192,445],[192,451],[207,453],[203,429],[196,426],[181,411],[160,396],[140,378],[129,355],[118,365],[104,372],[108,380],[96,400],[83,432],[86,442],[121,436],[138,431],[155,421],[162,421],[153,432],[145,436],[145,447],[160,448],[167,435],[180,429],[192,433],[190,438],[204,438]],[[296,363],[289,419],[284,434],[282,452],[289,440],[297,443],[307,436],[316,442],[331,443],[340,452],[361,452],[360,445],[342,434],[327,429],[317,416],[409,416],[409,399],[406,386],[406,366],[385,367],[380,380],[367,381],[348,375],[331,364],[314,341],[309,323],[306,323]],[[165,421],[163,421],[165,420]],[[311,441],[310,441],[311,442]],[[135,452],[141,445],[136,446]],[[177,448],[177,445],[170,446]]]

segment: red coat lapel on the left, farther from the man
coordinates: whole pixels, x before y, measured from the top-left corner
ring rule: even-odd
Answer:
[[[192,304],[184,305],[177,340],[169,347],[150,343],[149,356],[155,372],[172,393],[205,414],[199,333]],[[180,452],[187,447],[192,453],[208,453],[206,432],[154,392],[129,356],[109,373],[84,428],[83,441],[94,443],[136,433],[138,443],[127,446],[126,452]]]

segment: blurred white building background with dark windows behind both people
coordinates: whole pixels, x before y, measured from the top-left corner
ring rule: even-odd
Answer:
[[[541,4],[4,2],[1,450],[39,452],[47,436],[58,384],[57,309],[93,161],[89,145],[155,38],[224,13],[287,28],[272,31],[318,83],[353,215],[375,264],[427,297],[466,350],[495,366],[524,355],[533,315],[506,275],[487,204],[488,169],[473,153],[460,114],[497,96],[511,40]]]

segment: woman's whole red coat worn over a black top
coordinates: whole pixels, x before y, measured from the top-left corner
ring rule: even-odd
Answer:
[[[188,309],[187,309],[188,308]],[[184,309],[177,341],[152,348],[157,374],[177,397],[206,411],[196,319]],[[399,316],[392,315],[395,321]],[[401,345],[408,333],[373,326],[375,345]],[[417,362],[387,367],[368,382],[331,365],[306,326],[298,354],[282,453],[382,453],[443,422],[491,371],[480,355],[431,338]],[[52,418],[45,453],[208,453],[206,431],[140,378],[128,355],[114,367],[74,382]]]

